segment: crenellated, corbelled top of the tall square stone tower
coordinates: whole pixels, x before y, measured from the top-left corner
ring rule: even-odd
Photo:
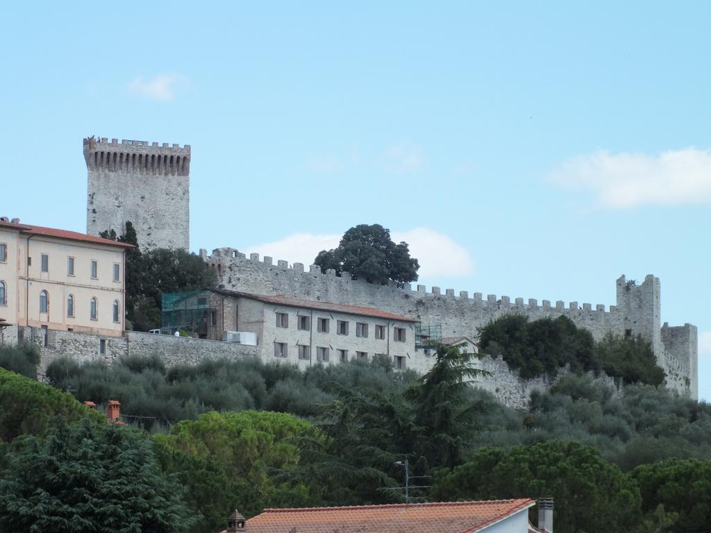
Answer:
[[[84,159],[90,171],[188,176],[191,147],[89,137],[84,139]]]

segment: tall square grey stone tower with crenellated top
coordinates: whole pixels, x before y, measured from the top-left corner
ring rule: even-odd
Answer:
[[[190,248],[190,145],[84,139],[87,233],[133,223],[141,249]]]

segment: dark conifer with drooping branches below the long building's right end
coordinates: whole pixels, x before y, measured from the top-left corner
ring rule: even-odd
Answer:
[[[475,431],[480,402],[469,402],[471,379],[488,372],[471,366],[476,355],[459,346],[439,344],[432,368],[405,392],[412,402],[420,456],[431,466],[453,468],[461,463],[469,437]]]

